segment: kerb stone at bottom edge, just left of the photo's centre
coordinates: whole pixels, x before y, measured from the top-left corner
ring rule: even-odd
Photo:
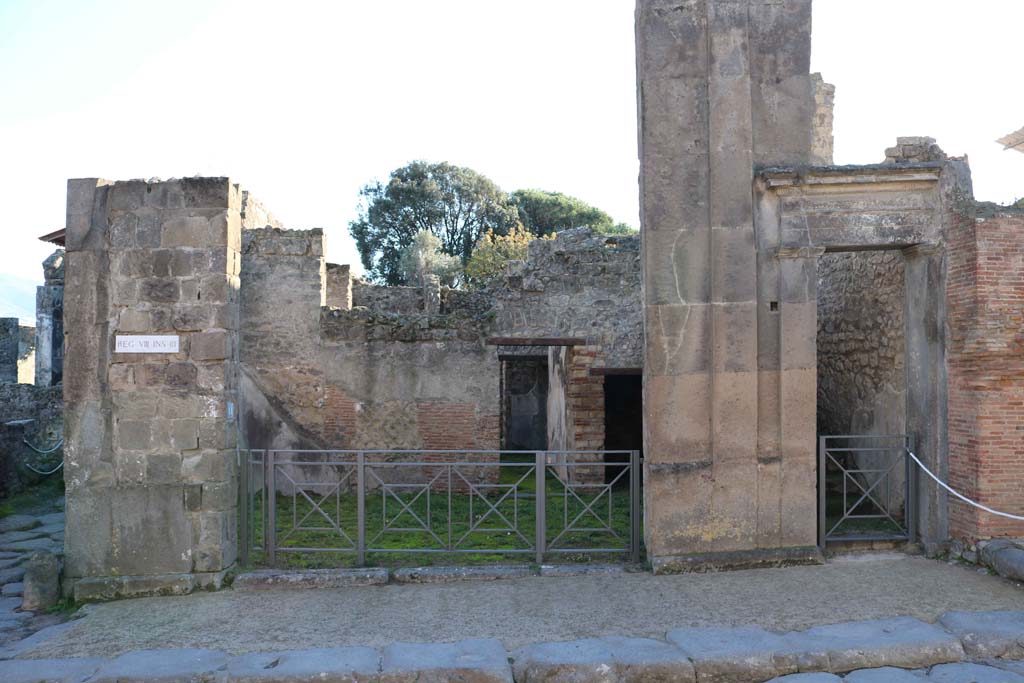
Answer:
[[[512,683],[502,644],[480,638],[456,643],[395,643],[384,648],[381,680],[387,683]]]

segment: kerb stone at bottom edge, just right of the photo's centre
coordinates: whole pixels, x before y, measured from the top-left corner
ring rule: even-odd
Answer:
[[[539,643],[512,653],[517,683],[693,681],[681,651],[645,638],[592,638]]]

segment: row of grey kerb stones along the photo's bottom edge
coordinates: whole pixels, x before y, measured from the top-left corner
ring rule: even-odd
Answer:
[[[53,627],[53,631],[69,626]],[[44,633],[37,636],[45,637]],[[665,640],[590,638],[538,643],[512,652],[498,640],[481,638],[394,643],[381,650],[349,646],[243,655],[205,649],[143,650],[114,658],[4,658],[8,654],[0,652],[0,680],[5,683],[891,683],[923,679],[1019,683],[1018,677],[1024,680],[1024,666],[1015,663],[1024,659],[1024,611],[947,612],[937,624],[895,617],[786,633],[753,627],[684,628],[670,631]]]

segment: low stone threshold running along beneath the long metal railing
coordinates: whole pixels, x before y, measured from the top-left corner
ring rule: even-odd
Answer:
[[[487,564],[480,566],[364,567],[353,569],[254,569],[234,577],[236,590],[347,588],[387,584],[447,584],[527,577],[579,577],[640,572],[631,564]]]

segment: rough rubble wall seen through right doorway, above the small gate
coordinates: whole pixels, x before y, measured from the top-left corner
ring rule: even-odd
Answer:
[[[818,259],[818,433],[906,429],[904,260],[898,251]]]

